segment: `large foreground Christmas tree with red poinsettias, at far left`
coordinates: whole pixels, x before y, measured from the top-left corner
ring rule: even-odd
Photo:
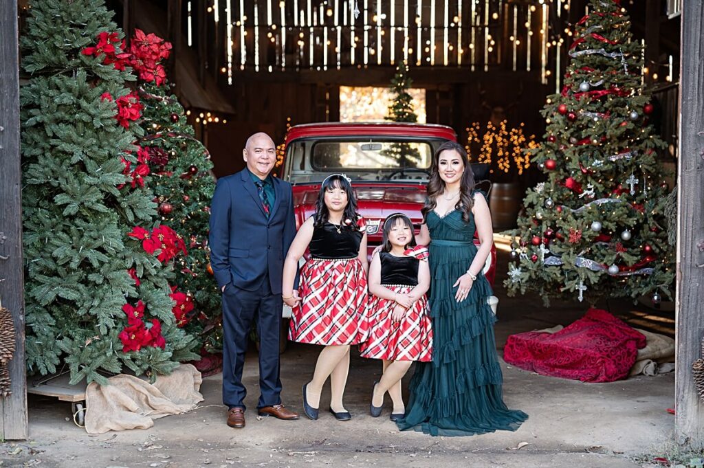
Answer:
[[[20,94],[27,367],[71,381],[165,374],[197,358],[176,326],[172,263],[138,145],[139,66],[102,0],[32,4]]]

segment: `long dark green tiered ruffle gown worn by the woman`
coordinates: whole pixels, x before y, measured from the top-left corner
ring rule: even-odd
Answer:
[[[515,431],[528,415],[509,410],[501,396],[501,367],[496,357],[496,318],[486,299],[491,286],[477,274],[465,301],[455,301],[455,281],[470,267],[477,247],[474,217],[462,212],[426,218],[430,251],[430,315],[433,360],[417,362],[410,380],[406,417],[396,424],[432,436],[470,436],[496,430]]]

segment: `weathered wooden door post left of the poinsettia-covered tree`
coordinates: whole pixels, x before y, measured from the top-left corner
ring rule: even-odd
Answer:
[[[0,300],[12,312],[17,333],[9,363],[12,394],[0,397],[0,440],[27,438],[17,29],[17,2],[5,1],[0,6]]]

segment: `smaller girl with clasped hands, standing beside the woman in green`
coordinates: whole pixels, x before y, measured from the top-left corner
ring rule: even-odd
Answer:
[[[381,415],[388,391],[394,402],[391,421],[403,417],[401,379],[410,365],[432,360],[433,335],[425,298],[430,286],[427,250],[414,246],[410,219],[403,213],[390,215],[384,222],[382,251],[372,258],[369,270],[370,332],[360,351],[363,358],[384,362],[370,412],[373,417]]]

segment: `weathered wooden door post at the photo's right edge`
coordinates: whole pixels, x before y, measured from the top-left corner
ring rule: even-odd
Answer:
[[[677,177],[677,313],[675,429],[679,443],[704,448],[704,405],[692,377],[704,333],[704,2],[682,5],[679,168]]]

